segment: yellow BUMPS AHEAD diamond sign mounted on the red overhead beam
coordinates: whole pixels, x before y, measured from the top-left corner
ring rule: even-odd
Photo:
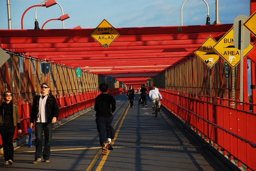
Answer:
[[[119,35],[119,31],[105,19],[90,34],[104,48],[108,48]]]

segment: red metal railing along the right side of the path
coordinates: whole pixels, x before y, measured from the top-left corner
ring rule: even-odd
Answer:
[[[256,114],[250,103],[160,89],[163,105],[230,160],[256,170]],[[254,104],[255,105],[255,104]]]

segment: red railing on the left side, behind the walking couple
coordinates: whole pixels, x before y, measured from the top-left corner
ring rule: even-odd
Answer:
[[[122,88],[111,88],[109,94],[116,96],[122,94]],[[55,95],[56,101],[59,107],[59,121],[65,119],[79,111],[89,108],[94,105],[95,98],[100,94],[100,91],[84,91],[69,94],[57,94]],[[14,135],[14,139],[18,140],[27,134],[29,128],[29,118],[32,103],[28,103],[28,99],[17,100],[20,111],[20,125],[22,134],[18,134],[17,127]],[[1,137],[1,135],[0,135]],[[0,145],[2,145],[2,139],[0,138]]]

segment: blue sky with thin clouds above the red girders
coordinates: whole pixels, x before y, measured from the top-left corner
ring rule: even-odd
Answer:
[[[43,0],[10,0],[12,29],[21,28],[23,12]],[[180,11],[185,0],[56,0],[64,14],[70,18],[64,21],[65,28],[95,28],[106,19],[116,28],[180,26]],[[209,6],[210,22],[215,21],[215,0],[206,0]],[[233,23],[234,19],[245,14],[249,16],[250,0],[219,0],[219,21]],[[45,21],[58,18],[61,8],[58,5],[38,7],[39,27]],[[8,29],[6,0],[0,0],[0,29]],[[204,25],[207,6],[203,0],[187,0],[183,6],[183,26]],[[29,9],[23,19],[24,29],[33,29],[35,8]],[[50,21],[44,28],[62,28],[61,21]]]

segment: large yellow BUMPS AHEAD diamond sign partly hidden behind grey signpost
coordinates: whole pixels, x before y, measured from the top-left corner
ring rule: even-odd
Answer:
[[[231,67],[235,67],[240,62],[240,50],[234,46],[234,28],[232,27],[221,39],[213,46],[214,50],[223,57]],[[252,43],[244,49],[244,57],[253,50]]]

